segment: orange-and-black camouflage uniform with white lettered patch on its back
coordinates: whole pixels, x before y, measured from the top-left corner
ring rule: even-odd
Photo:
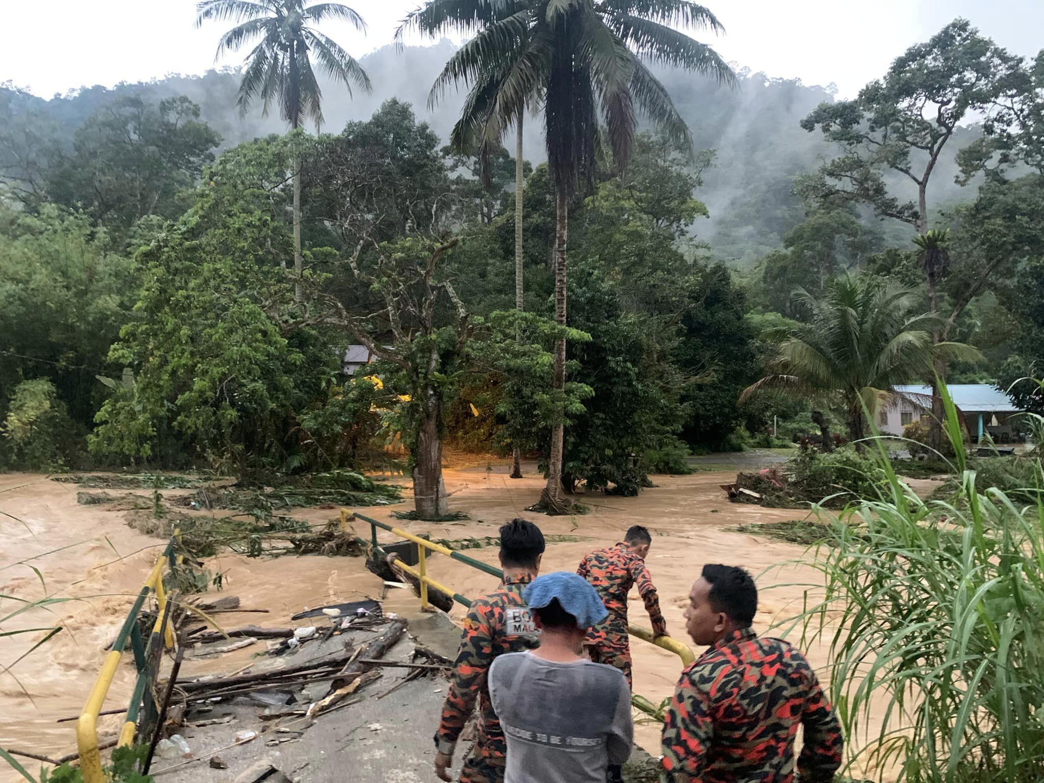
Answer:
[[[487,675],[493,659],[504,652],[521,652],[536,647],[540,636],[522,589],[532,582],[529,574],[504,574],[500,587],[472,601],[464,620],[460,649],[453,664],[449,692],[435,733],[435,745],[444,752],[460,736],[464,725],[479,699],[479,742],[503,738],[500,721],[490,701]]]

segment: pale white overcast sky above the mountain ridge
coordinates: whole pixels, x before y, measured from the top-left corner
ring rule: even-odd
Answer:
[[[1044,0],[707,2],[727,34],[695,38],[713,43],[727,60],[769,76],[800,77],[824,86],[833,81],[840,97],[853,96],[906,47],[926,40],[957,16],[967,17],[1013,52],[1031,55],[1044,47]],[[335,23],[323,29],[358,57],[389,43],[399,20],[418,3],[347,0],[347,4],[365,18],[367,33]],[[44,97],[81,86],[203,73],[213,67],[217,39],[228,26],[209,22],[196,29],[192,0],[3,5],[0,82],[9,80]],[[218,65],[239,65],[242,54]]]

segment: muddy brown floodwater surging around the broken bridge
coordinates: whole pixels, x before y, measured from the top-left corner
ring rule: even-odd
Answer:
[[[471,519],[455,523],[399,522],[390,512],[408,508],[408,501],[395,506],[358,509],[376,519],[393,522],[414,532],[430,532],[437,539],[496,536],[497,527],[516,516],[537,521],[545,535],[582,539],[548,547],[543,570],[576,568],[589,550],[613,544],[633,524],[654,532],[646,561],[660,594],[660,601],[672,636],[685,638],[682,613],[693,579],[705,563],[727,563],[749,569],[761,589],[755,626],[765,631],[774,621],[801,610],[806,590],[814,592],[817,572],[799,562],[809,556],[803,547],[728,531],[739,523],[774,522],[801,518],[800,511],[768,509],[730,503],[720,483],[731,481],[735,472],[701,472],[689,476],[656,476],[658,484],[636,498],[585,498],[588,514],[547,518],[527,515],[523,508],[538,500],[543,485],[529,466],[527,477],[507,478],[506,466],[485,462],[471,469],[449,470],[448,490],[453,493],[451,509],[467,512]],[[54,639],[35,649],[9,672],[0,671],[0,744],[60,756],[74,750],[74,723],[56,723],[76,715],[91,688],[104,657],[105,644],[140,590],[163,542],[127,527],[124,512],[106,505],[79,505],[78,489],[31,474],[0,475],[0,617],[22,606],[17,599],[42,597],[69,599],[46,609],[22,614],[2,624],[0,632],[19,628],[63,628]],[[175,497],[185,491],[165,491]],[[150,496],[150,492],[142,492]],[[336,516],[334,509],[296,509],[293,516],[324,522]],[[5,516],[9,515],[9,516]],[[13,519],[17,518],[17,519]],[[356,522],[356,531],[369,538],[369,525]],[[379,540],[392,541],[390,533]],[[468,554],[496,563],[496,549],[470,549]],[[242,607],[266,609],[268,614],[227,615],[229,626],[254,623],[285,626],[289,617],[305,607],[379,597],[381,582],[367,572],[361,557],[283,556],[247,560],[235,554],[212,559],[208,567],[220,570],[224,592],[238,595]],[[35,569],[35,570],[34,570]],[[38,573],[39,571],[39,573]],[[495,579],[465,564],[435,556],[429,574],[466,596],[475,596],[495,586]],[[417,599],[404,590],[394,590],[385,601],[386,611],[406,616],[418,611]],[[453,616],[459,619],[457,607]],[[632,595],[632,621],[648,626],[637,593]],[[10,666],[32,647],[46,632],[0,637],[0,664]],[[792,641],[798,641],[791,634]],[[688,642],[688,639],[685,639]],[[230,670],[245,665],[255,649],[246,648],[217,661],[190,662],[183,677],[207,670]],[[697,650],[698,652],[698,650]],[[635,691],[654,702],[669,695],[681,670],[680,660],[639,640],[632,640]],[[809,659],[822,675],[826,650],[813,646]],[[129,656],[127,656],[129,658]],[[241,660],[240,660],[241,659]],[[110,691],[106,708],[125,706],[133,686],[128,662],[121,667]],[[426,716],[434,730],[437,715]],[[101,734],[115,734],[119,716],[102,718]],[[649,753],[659,755],[660,729],[651,723],[637,727],[637,739]],[[35,768],[34,762],[27,764]],[[0,781],[20,780],[0,769]]]

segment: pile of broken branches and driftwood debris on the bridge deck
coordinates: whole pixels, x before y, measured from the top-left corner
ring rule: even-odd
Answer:
[[[237,611],[248,610],[241,609],[234,596],[193,604],[182,620],[179,662],[226,655],[245,645],[267,644],[267,654],[228,673],[196,679],[179,679],[180,663],[175,665],[171,680],[158,687],[171,695],[168,704],[161,705],[165,719],[155,743],[152,775],[205,762],[227,769],[229,762],[235,763],[232,749],[238,745],[263,742],[275,749],[300,742],[325,715],[365,698],[383,698],[419,678],[443,677],[452,666],[422,646],[389,657],[406,636],[407,622],[385,614],[373,599],[303,611],[291,618],[306,623],[299,627],[245,625],[222,631],[212,627],[213,621],[188,627],[195,618]],[[367,689],[385,675],[388,687]],[[209,731],[193,738],[193,730],[205,727]],[[211,749],[200,746],[201,737]],[[278,763],[274,758],[257,761],[230,780],[300,779],[293,777],[299,770],[282,770]]]

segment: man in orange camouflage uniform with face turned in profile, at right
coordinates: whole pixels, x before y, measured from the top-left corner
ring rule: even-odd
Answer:
[[[751,627],[758,590],[735,566],[704,566],[686,630],[710,648],[682,672],[663,726],[666,783],[830,783],[841,765],[840,725],[805,657]]]

